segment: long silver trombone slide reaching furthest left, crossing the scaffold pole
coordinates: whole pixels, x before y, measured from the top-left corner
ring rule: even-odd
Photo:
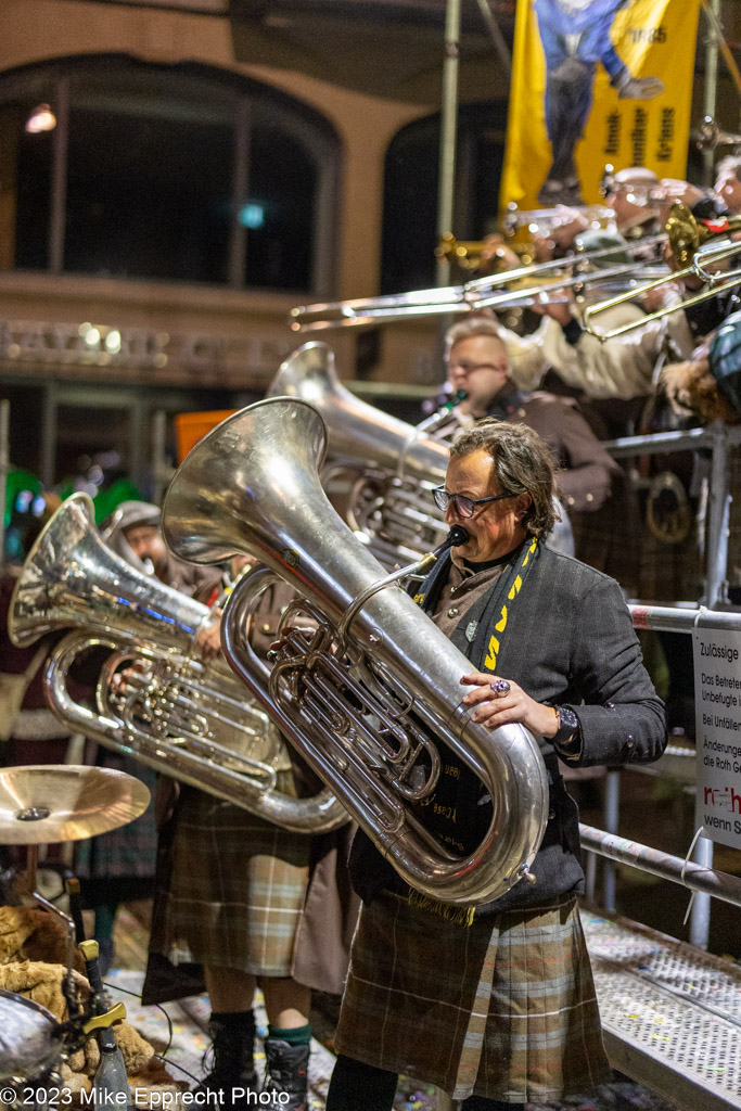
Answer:
[[[622,280],[621,288],[627,297],[633,297],[635,284],[634,257],[647,249],[663,243],[665,234],[649,236],[635,243],[601,247],[593,251],[564,259],[551,259],[534,266],[518,267],[499,274],[474,278],[462,286],[443,286],[438,289],[413,290],[409,293],[393,293],[385,297],[364,298],[353,301],[333,301],[319,304],[297,306],[291,309],[289,323],[296,332],[316,332],[330,328],[359,328],[388,320],[413,320],[420,317],[442,313],[475,312],[480,309],[515,308],[543,304],[549,301],[570,300],[570,291],[579,296],[600,292],[604,286]],[[598,260],[615,254],[628,254],[630,262],[607,267],[602,270],[584,271],[582,268]],[[645,269],[643,269],[645,277]],[[668,268],[661,273],[665,277]],[[652,271],[655,274],[655,271]]]

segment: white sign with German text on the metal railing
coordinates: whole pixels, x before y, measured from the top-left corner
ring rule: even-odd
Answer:
[[[695,629],[695,829],[741,849],[741,633]]]

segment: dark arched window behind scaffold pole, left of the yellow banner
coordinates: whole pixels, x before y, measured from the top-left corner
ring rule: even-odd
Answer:
[[[457,239],[493,231],[504,158],[507,102],[464,104],[458,114]],[[408,123],[385,154],[381,292],[434,284],[440,116]]]

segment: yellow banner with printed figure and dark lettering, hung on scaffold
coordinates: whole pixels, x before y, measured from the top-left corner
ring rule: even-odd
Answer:
[[[594,204],[604,166],[684,178],[700,0],[518,0],[501,207]]]

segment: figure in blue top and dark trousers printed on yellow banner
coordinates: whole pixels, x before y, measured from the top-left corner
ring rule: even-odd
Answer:
[[[630,72],[611,30],[631,0],[534,0],[545,56],[545,127],[552,162],[538,193],[541,204],[583,204],[575,150],[592,108],[594,76],[604,67],[618,97],[652,100],[664,91],[658,77]]]

